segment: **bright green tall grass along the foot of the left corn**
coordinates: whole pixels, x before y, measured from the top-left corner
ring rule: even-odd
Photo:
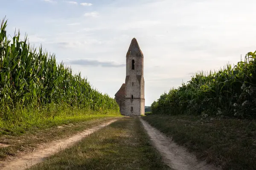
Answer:
[[[65,105],[51,105],[49,109],[19,109],[8,120],[0,118],[0,136],[18,136],[33,129],[45,129],[72,122],[82,122],[108,116],[121,116],[115,111],[96,112],[70,108]]]

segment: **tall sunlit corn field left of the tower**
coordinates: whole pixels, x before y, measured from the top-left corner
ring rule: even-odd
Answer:
[[[115,111],[114,99],[91,87],[81,74],[57,63],[48,52],[32,49],[20,33],[11,40],[7,22],[0,27],[0,118],[9,119],[9,111],[17,108],[43,108],[46,105],[68,105],[92,111]]]

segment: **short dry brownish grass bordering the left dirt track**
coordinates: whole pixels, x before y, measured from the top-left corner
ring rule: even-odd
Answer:
[[[118,117],[120,118],[116,115],[103,116],[96,114],[83,115],[83,117],[73,116],[69,122],[59,124],[61,128],[45,125],[40,128],[30,128],[26,133],[18,136],[1,135],[0,144],[5,144],[8,147],[0,147],[0,160],[4,161],[10,156],[19,156],[23,152],[32,152],[40,144],[46,144],[53,139],[61,140]],[[75,119],[78,119],[78,121]]]

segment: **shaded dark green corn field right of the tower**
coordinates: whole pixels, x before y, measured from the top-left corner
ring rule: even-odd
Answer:
[[[256,51],[220,71],[199,72],[151,104],[155,114],[256,118]]]

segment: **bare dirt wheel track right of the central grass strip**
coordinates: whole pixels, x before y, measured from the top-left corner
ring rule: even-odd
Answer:
[[[145,130],[151,138],[154,147],[160,152],[163,161],[174,170],[221,170],[207,164],[205,161],[197,160],[195,155],[186,151],[186,148],[177,145],[169,137],[149,125],[140,118]]]

